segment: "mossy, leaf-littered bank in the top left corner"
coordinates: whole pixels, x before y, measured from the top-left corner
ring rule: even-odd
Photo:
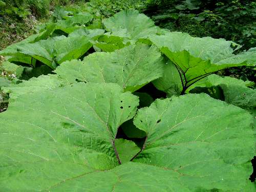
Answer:
[[[4,4],[0,3],[0,50],[33,34],[36,25],[48,21],[54,7],[72,3],[66,0],[2,2]]]

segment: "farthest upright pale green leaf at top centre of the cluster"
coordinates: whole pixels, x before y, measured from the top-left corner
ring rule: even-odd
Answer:
[[[144,38],[159,31],[153,20],[134,9],[122,10],[110,18],[103,19],[102,23],[112,35],[129,39]]]

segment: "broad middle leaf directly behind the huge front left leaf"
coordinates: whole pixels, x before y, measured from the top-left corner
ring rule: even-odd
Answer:
[[[138,44],[112,53],[93,53],[83,61],[62,63],[55,72],[67,82],[113,82],[133,92],[161,77],[163,66],[155,46]]]

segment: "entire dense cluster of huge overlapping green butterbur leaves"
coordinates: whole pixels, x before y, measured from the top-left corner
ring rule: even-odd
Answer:
[[[256,49],[239,48],[134,9],[102,23],[58,9],[0,52],[17,76],[0,79],[1,189],[254,191],[254,83],[214,74],[255,66]]]

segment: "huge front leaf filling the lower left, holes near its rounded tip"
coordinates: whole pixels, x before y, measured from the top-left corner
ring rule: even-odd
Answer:
[[[174,170],[140,163],[113,168],[111,143],[136,105],[136,96],[115,84],[76,83],[20,96],[0,114],[1,189],[189,191]]]

